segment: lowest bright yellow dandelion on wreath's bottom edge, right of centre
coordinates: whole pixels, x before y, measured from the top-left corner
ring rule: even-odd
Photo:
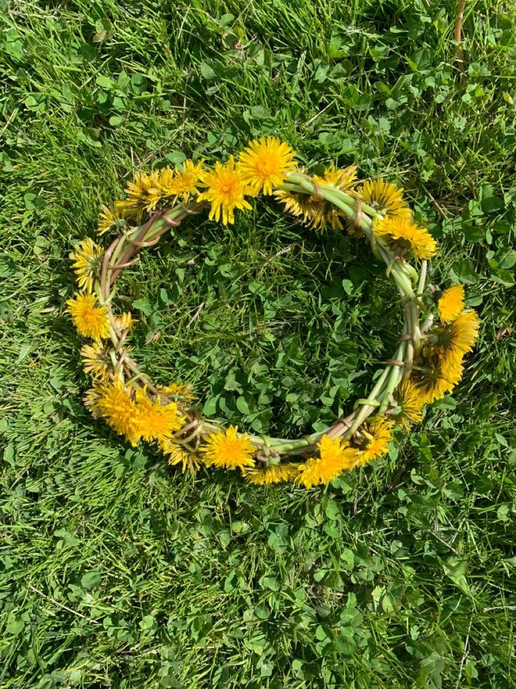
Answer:
[[[299,465],[297,483],[311,488],[319,483],[330,483],[345,469],[355,465],[358,452],[348,443],[341,445],[339,438],[328,438],[323,435],[319,445],[319,459],[311,457],[304,464]]]

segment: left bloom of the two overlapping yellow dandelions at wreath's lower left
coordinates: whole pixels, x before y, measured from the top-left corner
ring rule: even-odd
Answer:
[[[133,447],[137,445],[142,435],[137,421],[138,409],[122,381],[117,379],[96,386],[87,404],[95,418],[102,417],[118,435],[124,435]]]

